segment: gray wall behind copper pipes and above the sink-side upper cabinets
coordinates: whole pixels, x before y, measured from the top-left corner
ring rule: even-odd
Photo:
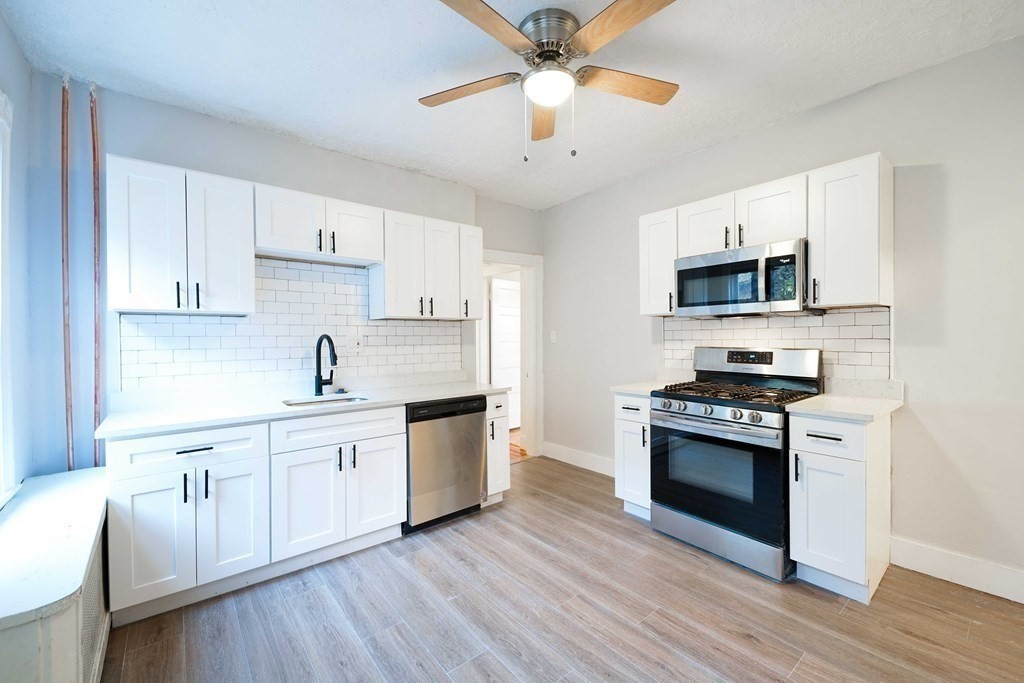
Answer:
[[[136,157],[460,222],[475,222],[476,196],[469,187],[117,92],[100,90],[98,101],[100,148],[104,154]],[[31,371],[41,380],[31,383],[32,396],[26,411],[45,416],[31,421],[34,454],[31,470],[32,473],[45,473],[62,469],[65,462],[58,79],[38,73],[33,76],[32,108],[30,201],[34,229],[28,249],[33,316],[29,331],[32,335]],[[72,110],[75,443],[77,463],[86,466],[92,462],[92,181],[86,85],[72,84]],[[27,116],[22,120],[29,122]],[[498,213],[507,215],[507,211]],[[499,244],[505,245],[499,248],[506,248],[516,244],[512,238],[518,237],[510,236],[504,219],[497,229],[498,238],[484,226],[485,245]],[[535,237],[530,244],[540,244],[540,240]],[[26,356],[19,354],[18,357]]]

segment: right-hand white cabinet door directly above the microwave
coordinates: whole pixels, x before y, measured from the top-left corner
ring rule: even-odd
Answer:
[[[807,175],[740,189],[735,201],[736,240],[730,248],[807,237]]]

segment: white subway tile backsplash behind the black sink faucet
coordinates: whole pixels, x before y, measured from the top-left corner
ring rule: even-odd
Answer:
[[[121,389],[307,380],[324,333],[335,340],[342,379],[462,370],[459,322],[369,321],[368,293],[366,269],[258,259],[252,315],[122,315]],[[706,329],[709,338],[713,330],[724,332],[719,321],[708,328],[700,321],[679,323],[687,341],[690,330]],[[743,332],[735,323],[729,332]],[[347,353],[352,336],[362,338],[358,354]],[[681,362],[692,357],[692,347],[681,351]]]

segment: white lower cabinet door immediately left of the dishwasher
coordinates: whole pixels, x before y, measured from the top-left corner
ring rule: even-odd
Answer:
[[[406,521],[406,435],[354,441],[344,447],[348,538]]]

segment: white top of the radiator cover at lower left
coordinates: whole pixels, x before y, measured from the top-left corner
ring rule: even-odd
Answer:
[[[0,629],[58,611],[81,590],[105,514],[101,467],[25,481],[0,511]]]

